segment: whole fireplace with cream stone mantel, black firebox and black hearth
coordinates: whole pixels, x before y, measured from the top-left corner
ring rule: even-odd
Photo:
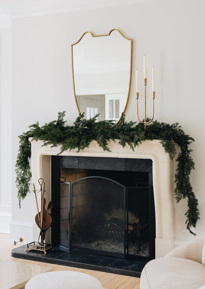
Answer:
[[[176,162],[175,160],[170,160],[169,155],[165,153],[165,150],[159,140],[142,141],[142,143],[137,146],[135,150],[132,150],[129,146],[123,148],[117,141],[109,141],[108,147],[110,148],[110,152],[103,151],[95,141],[92,141],[89,148],[85,148],[81,152],[77,152],[77,150],[65,151],[60,156],[58,156],[61,151],[60,147],[52,147],[50,145],[43,146],[42,141],[34,141],[32,139],[31,144],[32,181],[37,184],[38,179],[43,178],[46,183],[47,191],[46,203],[48,204],[51,199],[54,201],[52,213],[56,217],[56,223],[52,228],[52,234],[51,231],[49,232],[50,229],[47,231],[46,242],[49,243],[52,240],[54,247],[55,245],[57,246],[55,247],[54,251],[49,250],[50,252],[48,251],[44,256],[44,254],[41,254],[42,252],[32,252],[33,250],[26,252],[26,245],[24,245],[15,248],[12,251],[13,257],[140,277],[140,272],[149,260],[149,257],[163,257],[174,248],[175,212],[173,185]],[[54,158],[56,158],[56,160],[63,161],[60,164],[58,163],[59,161],[57,161],[57,164],[52,166],[52,161]],[[90,162],[86,158],[88,158]],[[93,161],[94,158],[97,160],[96,162]],[[87,160],[86,167],[84,163],[85,159]],[[100,161],[98,161],[99,159]],[[137,174],[139,173],[139,175],[133,177],[133,174],[136,172]],[[100,175],[98,173],[100,173]],[[124,183],[124,180],[130,180],[130,177],[128,176],[126,176],[126,178],[124,177],[127,173],[129,176],[131,176],[131,179],[136,179],[135,184],[127,185],[127,183]],[[60,176],[66,177],[67,179],[60,179]],[[64,232],[62,231],[61,233],[58,231],[61,226],[60,222],[63,224],[64,221],[60,218],[61,213],[59,208],[61,204],[63,206],[65,204],[67,205],[66,210],[68,212],[68,216],[70,216],[70,209],[75,210],[73,205],[75,202],[74,194],[71,202],[68,202],[70,199],[70,194],[68,194],[69,189],[67,183],[72,183],[73,185],[80,179],[89,177],[92,178],[96,176],[104,178],[105,180],[111,180],[111,182],[114,183],[116,182],[118,187],[124,188],[122,191],[125,190],[127,192],[124,193],[126,200],[128,198],[127,204],[131,205],[130,207],[126,207],[124,210],[125,201],[123,203],[123,197],[121,196],[120,209],[119,207],[116,208],[115,206],[109,209],[110,206],[107,206],[109,212],[102,210],[103,213],[101,211],[101,214],[99,214],[100,216],[103,216],[102,219],[106,234],[108,234],[111,222],[115,223],[115,225],[119,225],[119,222],[121,223],[121,221],[119,221],[121,220],[121,216],[125,215],[125,219],[123,219],[125,221],[123,221],[122,225],[119,225],[121,229],[116,230],[117,235],[122,233],[125,236],[124,239],[121,238],[121,240],[123,239],[123,245],[120,249],[117,249],[117,254],[121,254],[120,257],[119,255],[118,257],[113,256],[113,253],[116,253],[114,252],[116,251],[115,249],[105,250],[105,247],[101,247],[99,250],[99,248],[97,248],[95,242],[98,242],[97,236],[99,236],[99,234],[97,234],[97,231],[99,231],[100,228],[99,225],[93,226],[93,224],[89,224],[89,220],[84,224],[86,229],[84,226],[80,229],[80,232],[76,233],[77,237],[74,239],[74,243],[72,239],[72,242],[70,242],[70,235],[65,236],[65,232],[66,234],[74,235],[76,229],[74,226],[74,219],[64,223],[66,226]],[[67,201],[61,202],[61,186],[67,188],[65,191],[67,194],[67,196],[65,195]],[[138,195],[141,198],[140,194],[146,196],[144,204],[147,203],[148,198],[149,204],[152,205],[149,206],[149,212],[147,214],[149,225],[145,224],[145,230],[143,230],[143,232],[142,230],[138,231],[141,234],[139,234],[138,238],[140,242],[139,244],[134,242],[133,245],[133,239],[135,238],[135,240],[137,240],[137,230],[134,231],[132,227],[137,225],[136,219],[140,219],[138,216],[140,215],[140,212],[138,212],[137,215],[132,205],[135,204],[135,208],[137,208],[136,204],[138,203],[138,200],[136,200],[136,197]],[[113,195],[111,195],[112,194],[107,193],[106,197],[109,196],[112,199]],[[82,196],[80,196],[80,199],[83,199]],[[94,198],[93,202],[97,202],[97,200]],[[35,199],[33,203],[35,204]],[[139,207],[144,206],[144,204],[143,206],[140,203],[138,204]],[[88,206],[89,204],[86,204],[85,207]],[[143,211],[146,212],[146,210]],[[36,215],[34,206],[31,207],[31,214],[34,216]],[[132,218],[134,219],[134,222],[130,222]],[[93,220],[91,222],[93,222]],[[139,222],[141,226],[143,226],[142,223],[142,221]],[[71,227],[69,227],[70,224]],[[81,234],[82,231],[93,229],[93,227],[95,231],[94,239],[91,241],[85,240],[83,238],[85,234]],[[70,231],[70,228],[73,228],[73,231]],[[36,226],[36,224],[34,223],[31,228],[28,228],[28,230],[30,230],[29,240],[37,240],[39,228]],[[128,233],[127,236],[126,232]],[[100,235],[102,236],[102,233]],[[83,239],[84,241],[82,243]],[[67,243],[65,243],[65,240]],[[129,241],[128,250],[126,247],[126,240]],[[92,244],[94,243],[94,248],[90,248],[91,246],[89,246],[89,250],[95,250],[93,251],[94,253],[87,251],[88,248],[86,244],[89,244],[88,241],[90,243],[92,242]],[[109,240],[109,244],[111,243],[112,242]],[[149,257],[142,256],[140,251],[145,243],[149,243]],[[108,256],[109,253],[107,253],[107,251],[111,251],[111,256]],[[143,251],[146,252],[144,249]],[[154,255],[154,252],[155,256],[152,256]]]

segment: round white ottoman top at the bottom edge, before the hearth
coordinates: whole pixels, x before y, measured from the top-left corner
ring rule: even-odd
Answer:
[[[75,271],[54,271],[39,274],[26,284],[25,289],[102,289],[100,281],[88,274]]]

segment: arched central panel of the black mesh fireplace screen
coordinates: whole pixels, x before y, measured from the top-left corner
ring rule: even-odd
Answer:
[[[126,188],[104,177],[70,184],[72,250],[126,254]]]

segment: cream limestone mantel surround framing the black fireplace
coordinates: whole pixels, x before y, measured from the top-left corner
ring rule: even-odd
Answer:
[[[42,146],[43,141],[31,141],[32,144],[32,180],[35,184],[39,178],[46,183],[47,203],[51,199],[51,156],[60,153],[60,147]],[[77,153],[77,150],[65,151],[61,156],[110,157],[151,159],[153,164],[153,190],[156,217],[156,257],[163,257],[174,248],[175,210],[174,210],[174,172],[175,160],[171,161],[165,153],[160,140],[145,140],[133,151],[128,145],[123,148],[118,141],[110,141],[111,152],[105,152],[96,141],[89,148]],[[39,232],[38,232],[39,233]],[[34,239],[38,237],[34,236]]]

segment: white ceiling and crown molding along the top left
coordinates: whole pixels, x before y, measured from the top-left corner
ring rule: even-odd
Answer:
[[[76,10],[127,5],[153,0],[0,0],[0,26],[11,19]]]

